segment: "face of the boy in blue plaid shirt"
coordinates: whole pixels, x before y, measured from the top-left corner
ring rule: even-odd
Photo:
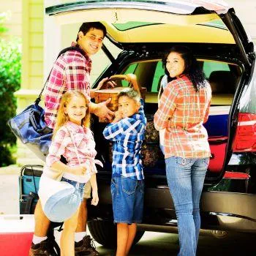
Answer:
[[[118,99],[118,111],[121,112],[123,118],[138,113],[139,108],[140,102],[137,102],[135,99],[131,99],[127,96],[121,96]]]

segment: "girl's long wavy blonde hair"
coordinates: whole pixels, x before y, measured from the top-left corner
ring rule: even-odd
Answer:
[[[67,107],[69,102],[71,102],[73,97],[81,97],[86,101],[86,116],[82,119],[81,125],[83,127],[90,127],[90,110],[89,110],[89,100],[86,99],[85,95],[80,91],[67,91],[63,94],[61,98],[61,102],[59,105],[59,110],[56,117],[56,124],[53,129],[53,137],[56,135],[56,132],[61,128],[64,124],[69,121],[69,116],[64,112],[64,109]]]

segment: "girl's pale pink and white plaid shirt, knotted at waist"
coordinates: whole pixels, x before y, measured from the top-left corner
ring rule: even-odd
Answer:
[[[78,154],[75,148],[78,149]],[[59,161],[63,155],[67,159],[67,165],[78,166],[81,163],[87,165],[91,173],[97,173],[95,163],[101,165],[101,162],[94,159],[96,154],[94,136],[91,130],[68,121],[56,132],[46,157],[46,165],[50,167],[54,162]]]

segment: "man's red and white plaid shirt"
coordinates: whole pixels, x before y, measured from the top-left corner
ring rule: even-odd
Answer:
[[[45,121],[53,128],[62,95],[66,91],[81,91],[90,100],[91,59],[77,50],[61,54],[53,64],[45,89]]]

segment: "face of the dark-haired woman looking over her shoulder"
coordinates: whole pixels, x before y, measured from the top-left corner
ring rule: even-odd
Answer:
[[[166,59],[166,69],[170,74],[170,78],[178,78],[184,72],[185,61],[180,54],[171,52]]]

